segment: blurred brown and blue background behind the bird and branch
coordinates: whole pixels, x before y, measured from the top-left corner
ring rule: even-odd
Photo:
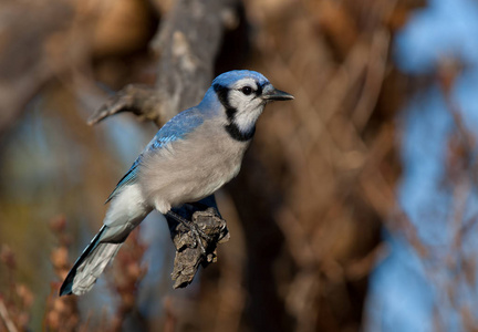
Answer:
[[[229,22],[205,86],[250,69],[295,100],[267,107],[216,195],[229,242],[173,290],[153,212],[92,292],[61,299],[157,131],[86,120],[157,82],[177,3],[0,3],[0,331],[478,331],[478,1],[231,3],[201,13]]]

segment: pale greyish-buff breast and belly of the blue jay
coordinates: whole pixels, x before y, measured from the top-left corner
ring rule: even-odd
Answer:
[[[202,199],[238,175],[248,145],[232,139],[222,125],[205,123],[187,139],[144,157],[142,193],[163,214]]]

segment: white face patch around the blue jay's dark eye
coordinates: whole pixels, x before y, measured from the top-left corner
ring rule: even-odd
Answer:
[[[229,105],[237,110],[233,123],[241,132],[249,132],[256,125],[266,105],[261,98],[262,86],[253,79],[239,80],[229,86]]]

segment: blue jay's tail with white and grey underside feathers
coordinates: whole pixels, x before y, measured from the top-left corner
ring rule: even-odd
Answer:
[[[108,226],[103,226],[76,260],[60,289],[60,297],[81,295],[90,291],[107,263],[116,256],[123,241],[102,242],[107,229]]]

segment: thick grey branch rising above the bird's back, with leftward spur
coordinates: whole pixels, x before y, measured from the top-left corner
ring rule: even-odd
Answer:
[[[127,85],[89,123],[132,112],[160,126],[199,103],[212,79],[224,31],[235,21],[237,4],[237,0],[179,0],[152,42],[158,55],[155,86]]]

